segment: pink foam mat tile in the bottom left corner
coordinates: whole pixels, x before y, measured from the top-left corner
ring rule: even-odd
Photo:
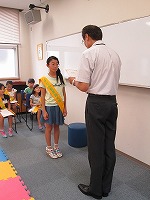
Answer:
[[[0,181],[0,200],[30,200],[30,191],[20,176]]]

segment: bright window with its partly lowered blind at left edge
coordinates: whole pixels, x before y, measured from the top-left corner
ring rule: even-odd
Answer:
[[[19,78],[19,11],[0,7],[0,79]]]

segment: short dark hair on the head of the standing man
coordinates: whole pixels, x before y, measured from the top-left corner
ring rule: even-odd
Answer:
[[[87,25],[82,29],[82,37],[85,39],[85,34],[88,34],[93,40],[102,40],[102,30],[95,25]]]

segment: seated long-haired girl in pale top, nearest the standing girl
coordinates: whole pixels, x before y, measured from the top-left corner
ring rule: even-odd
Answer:
[[[32,113],[37,113],[37,121],[38,121],[38,126],[39,126],[39,130],[43,130],[43,126],[40,122],[40,118],[41,118],[41,90],[38,84],[35,84],[33,87],[33,91],[32,94],[30,96],[30,106],[31,109],[30,111]]]

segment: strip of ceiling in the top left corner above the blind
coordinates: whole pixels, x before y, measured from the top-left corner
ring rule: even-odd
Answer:
[[[0,6],[7,8],[17,8],[20,10],[29,10],[29,5],[42,6],[45,0],[0,0]]]

